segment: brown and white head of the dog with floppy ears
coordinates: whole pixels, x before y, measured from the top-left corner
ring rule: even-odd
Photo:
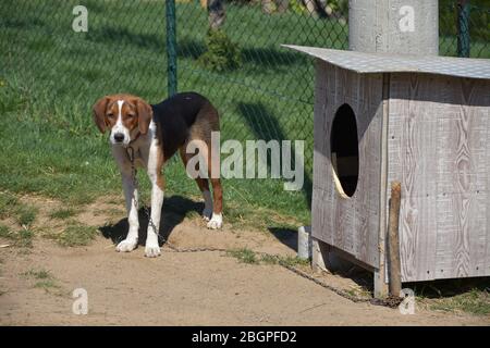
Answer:
[[[113,95],[94,104],[94,121],[101,133],[110,129],[113,145],[127,146],[140,134],[146,134],[152,117],[151,107],[142,98]]]

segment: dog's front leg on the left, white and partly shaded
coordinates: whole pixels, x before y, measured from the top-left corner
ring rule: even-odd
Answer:
[[[118,244],[115,250],[128,252],[135,249],[138,244],[138,229],[139,229],[138,208],[137,208],[138,190],[135,186],[135,182],[133,178],[131,163],[123,151],[125,150],[122,148],[115,148],[113,149],[112,153],[117,159],[121,171],[124,198],[126,200],[127,223],[130,225],[130,231],[127,232],[126,238],[122,240],[120,244]]]

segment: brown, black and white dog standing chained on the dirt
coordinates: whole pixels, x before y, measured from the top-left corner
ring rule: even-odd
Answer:
[[[163,203],[166,181],[162,167],[179,150],[184,166],[194,154],[186,152],[187,145],[194,140],[205,146],[198,147],[199,156],[211,170],[211,132],[219,132],[219,115],[211,102],[196,92],[181,92],[158,104],[148,104],[132,95],[111,95],[99,99],[93,108],[94,121],[103,134],[110,129],[109,140],[112,156],[121,171],[124,197],[126,201],[128,232],[115,250],[128,252],[138,244],[138,192],[133,179],[133,167],[128,149],[132,149],[134,164],[147,171],[151,183],[151,221],[145,244],[145,256],[155,258],[160,254],[158,231]],[[213,175],[198,175],[197,185],[203,192],[205,208],[203,217],[207,227],[221,228],[222,188],[220,178]],[[215,175],[216,176],[216,175]],[[209,179],[208,179],[209,177]],[[212,186],[212,198],[209,191]],[[156,233],[157,232],[157,233]]]

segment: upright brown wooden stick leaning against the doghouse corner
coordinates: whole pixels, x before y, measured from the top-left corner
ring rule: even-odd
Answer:
[[[402,290],[402,275],[400,263],[399,220],[402,185],[400,182],[391,183],[391,199],[388,225],[388,258],[389,258],[389,290],[394,297]]]

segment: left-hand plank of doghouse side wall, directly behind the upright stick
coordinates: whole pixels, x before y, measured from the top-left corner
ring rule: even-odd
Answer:
[[[430,78],[392,74],[388,181],[402,183],[402,281],[434,278],[437,114]],[[387,188],[388,190],[388,188]],[[387,192],[388,195],[388,192]]]

